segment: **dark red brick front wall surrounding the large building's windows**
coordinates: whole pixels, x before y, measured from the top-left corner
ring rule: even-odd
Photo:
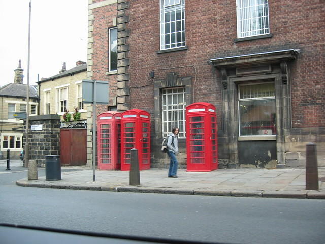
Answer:
[[[273,37],[243,42],[237,38],[236,1],[185,1],[186,45],[188,50],[156,54],[159,50],[159,1],[129,1],[131,107],[153,111],[151,70],[193,65],[197,69],[194,102],[217,107],[220,121],[220,85],[209,60],[214,57],[300,49],[291,74],[293,127],[325,126],[324,34],[325,7],[322,1],[269,1]],[[149,14],[150,13],[150,14]],[[190,69],[173,69],[180,76],[193,75]],[[156,71],[164,77],[170,70]],[[147,85],[137,93],[137,86]],[[148,99],[139,99],[144,96]]]

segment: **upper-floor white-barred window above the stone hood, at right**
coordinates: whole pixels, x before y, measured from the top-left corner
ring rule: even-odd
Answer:
[[[269,33],[268,0],[237,0],[237,37]]]

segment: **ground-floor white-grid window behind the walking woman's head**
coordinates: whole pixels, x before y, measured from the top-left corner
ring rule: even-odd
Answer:
[[[185,137],[185,87],[162,90],[163,137],[179,128],[179,137]]]

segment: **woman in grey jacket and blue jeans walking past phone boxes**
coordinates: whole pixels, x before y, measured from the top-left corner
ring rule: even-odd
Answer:
[[[171,158],[171,162],[168,170],[168,177],[177,178],[178,161],[176,154],[178,154],[178,128],[173,128],[172,134],[168,137],[167,148],[168,156]]]

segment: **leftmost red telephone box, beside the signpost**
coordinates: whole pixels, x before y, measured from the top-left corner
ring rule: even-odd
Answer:
[[[119,112],[98,115],[98,169],[121,169],[121,118]]]

